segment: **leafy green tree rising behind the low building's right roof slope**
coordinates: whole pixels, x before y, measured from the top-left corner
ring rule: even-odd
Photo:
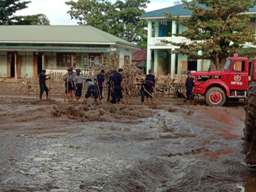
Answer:
[[[80,25],[90,25],[102,31],[146,47],[147,22],[140,20],[149,0],[125,0],[112,4],[105,0],[68,1],[71,19]]]

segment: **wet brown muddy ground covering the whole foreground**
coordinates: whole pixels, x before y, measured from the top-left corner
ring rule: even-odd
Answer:
[[[0,191],[256,191],[242,104],[96,107],[37,97],[1,92]]]

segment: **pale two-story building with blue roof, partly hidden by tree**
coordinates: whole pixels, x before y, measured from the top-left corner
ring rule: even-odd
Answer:
[[[177,25],[175,21],[167,20],[164,12],[174,16],[189,17],[192,11],[183,9],[184,4],[171,6],[165,9],[150,11],[141,16],[141,19],[148,21],[148,45],[147,45],[147,70],[154,70],[156,75],[181,74],[181,71],[187,70],[208,70],[210,60],[193,60],[187,55],[172,54],[172,50],[178,49],[171,44],[162,43],[162,40],[172,41],[176,43],[190,43],[189,39],[177,36],[171,36],[171,33],[182,33],[188,30],[185,26]],[[246,14],[256,15],[256,6],[250,9]],[[255,31],[255,18],[248,23]],[[153,27],[154,26],[154,27]],[[152,30],[154,28],[154,30]],[[245,45],[245,48],[255,48],[252,45]],[[198,54],[202,54],[199,52]]]

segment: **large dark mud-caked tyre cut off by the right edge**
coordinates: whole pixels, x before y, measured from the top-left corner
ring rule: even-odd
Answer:
[[[245,105],[245,141],[250,142],[250,152],[246,156],[247,164],[256,164],[256,82],[250,84]]]

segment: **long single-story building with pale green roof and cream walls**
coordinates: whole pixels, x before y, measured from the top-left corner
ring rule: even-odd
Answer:
[[[138,46],[92,26],[0,26],[0,77],[31,78],[43,69],[65,73],[82,62],[103,63],[119,51],[119,67]]]

